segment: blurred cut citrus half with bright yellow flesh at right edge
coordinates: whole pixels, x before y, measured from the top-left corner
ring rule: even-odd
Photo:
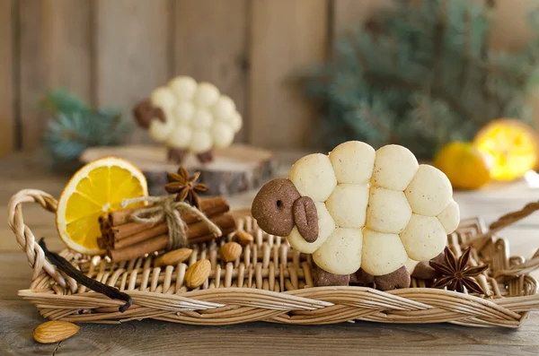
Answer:
[[[499,118],[484,126],[473,139],[491,161],[490,176],[498,180],[521,178],[535,168],[539,156],[535,130],[517,119]]]

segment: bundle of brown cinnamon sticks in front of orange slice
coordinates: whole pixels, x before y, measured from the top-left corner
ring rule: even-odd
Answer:
[[[162,251],[169,245],[166,222],[150,225],[129,221],[129,216],[141,208],[128,208],[102,215],[99,218],[102,237],[98,239],[101,248],[113,262],[127,261],[146,254]],[[221,196],[200,199],[200,211],[215,223],[226,236],[235,230],[233,216],[228,213],[230,205]],[[215,237],[208,224],[190,213],[181,213],[181,220],[187,225],[189,243],[208,242]]]

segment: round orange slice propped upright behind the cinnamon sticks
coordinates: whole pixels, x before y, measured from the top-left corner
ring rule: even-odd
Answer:
[[[99,216],[121,209],[124,199],[147,195],[144,174],[128,161],[105,157],[79,169],[58,200],[57,230],[67,247],[100,255]],[[133,205],[135,206],[135,205]]]

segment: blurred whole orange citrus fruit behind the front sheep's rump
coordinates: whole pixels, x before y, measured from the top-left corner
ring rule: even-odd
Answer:
[[[447,144],[437,152],[433,164],[457,189],[477,189],[490,180],[488,161],[473,143]]]

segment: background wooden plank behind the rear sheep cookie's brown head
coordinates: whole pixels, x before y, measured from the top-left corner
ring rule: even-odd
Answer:
[[[96,100],[99,106],[121,109],[131,120],[132,109],[170,77],[169,0],[95,0]],[[134,126],[128,142],[152,142],[146,130]]]

